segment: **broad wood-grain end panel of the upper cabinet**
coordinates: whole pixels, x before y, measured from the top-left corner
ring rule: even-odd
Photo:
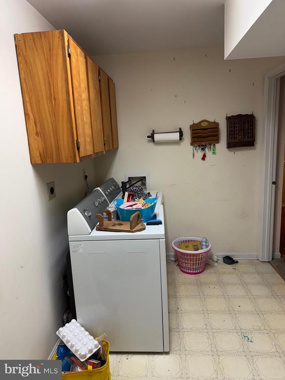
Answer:
[[[15,35],[32,163],[75,162],[62,31]]]

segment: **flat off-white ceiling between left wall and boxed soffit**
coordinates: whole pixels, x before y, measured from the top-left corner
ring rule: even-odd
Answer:
[[[223,45],[225,0],[28,0],[90,54]]]

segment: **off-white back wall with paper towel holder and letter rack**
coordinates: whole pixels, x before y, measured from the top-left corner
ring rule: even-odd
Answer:
[[[258,252],[264,74],[283,58],[224,61],[223,49],[197,48],[94,57],[116,84],[119,150],[99,180],[149,172],[165,195],[167,251],[180,236],[206,236],[217,253]],[[254,112],[255,147],[226,148],[226,114]],[[192,158],[192,120],[220,123],[217,155]],[[146,136],[182,127],[181,143]]]

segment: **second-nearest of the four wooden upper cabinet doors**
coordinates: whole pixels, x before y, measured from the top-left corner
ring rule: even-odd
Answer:
[[[104,151],[104,136],[100,102],[99,67],[89,56],[86,57],[86,62],[94,152],[98,153]]]

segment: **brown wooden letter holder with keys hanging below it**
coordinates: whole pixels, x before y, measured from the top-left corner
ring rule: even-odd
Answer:
[[[219,142],[219,123],[201,120],[190,125],[191,145],[212,145]]]

